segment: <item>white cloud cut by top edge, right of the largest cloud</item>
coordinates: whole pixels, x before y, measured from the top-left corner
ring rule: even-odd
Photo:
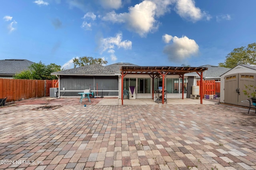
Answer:
[[[200,8],[196,7],[194,0],[177,0],[175,10],[182,18],[191,20],[192,22],[197,22],[202,18],[206,18],[206,20],[212,18],[206,12],[202,12]]]

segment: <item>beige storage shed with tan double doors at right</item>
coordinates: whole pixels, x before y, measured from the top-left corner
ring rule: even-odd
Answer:
[[[239,64],[220,76],[220,102],[248,106],[245,85],[256,85],[256,65]],[[255,90],[255,89],[252,89]]]

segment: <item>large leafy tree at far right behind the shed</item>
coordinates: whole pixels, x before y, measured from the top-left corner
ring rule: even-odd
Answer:
[[[256,64],[256,43],[248,44],[247,47],[233,49],[226,56],[225,62],[219,63],[219,66],[234,68],[238,64]]]

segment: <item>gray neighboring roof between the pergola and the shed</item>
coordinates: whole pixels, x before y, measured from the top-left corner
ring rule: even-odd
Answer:
[[[204,73],[203,73],[203,79],[216,79],[216,78],[219,79],[220,75],[222,75],[230,70],[230,68],[219,67],[219,66],[209,65],[209,64],[202,65],[200,67],[208,67],[208,70],[204,71]],[[196,74],[195,73],[187,73],[186,75],[192,76],[192,75],[196,75]]]

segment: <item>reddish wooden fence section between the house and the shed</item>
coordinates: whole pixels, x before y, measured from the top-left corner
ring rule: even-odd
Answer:
[[[200,81],[196,81],[196,85],[200,86]],[[216,93],[220,93],[220,82],[215,82],[215,80],[204,80],[203,97],[204,95],[215,95]]]

